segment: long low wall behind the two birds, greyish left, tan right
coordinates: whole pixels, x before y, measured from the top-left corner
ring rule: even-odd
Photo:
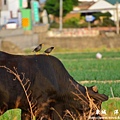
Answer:
[[[113,32],[98,36],[84,37],[49,37],[47,35],[49,25],[35,26],[32,31],[24,31],[23,29],[3,30],[0,31],[1,50],[15,53],[20,50],[35,48],[39,43],[44,43],[44,48],[54,46],[55,50],[90,50],[90,49],[119,49],[120,35]],[[20,50],[16,50],[16,47]]]

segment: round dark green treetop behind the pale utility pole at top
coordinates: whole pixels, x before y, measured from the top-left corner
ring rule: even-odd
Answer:
[[[69,13],[73,9],[73,0],[63,0],[63,16]],[[59,17],[59,4],[60,0],[47,0],[44,9],[47,10],[48,14],[53,14]]]

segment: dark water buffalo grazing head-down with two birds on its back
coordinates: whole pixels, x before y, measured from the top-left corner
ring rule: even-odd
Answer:
[[[22,120],[31,119],[31,110],[36,119],[71,120],[75,117],[80,120],[90,111],[94,115],[107,99],[94,86],[77,83],[54,56],[0,52],[1,115],[8,109],[20,108]],[[93,108],[90,100],[95,104]]]

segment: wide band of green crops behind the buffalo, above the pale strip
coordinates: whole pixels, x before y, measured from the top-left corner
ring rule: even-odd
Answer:
[[[77,81],[119,80],[120,52],[103,52],[103,58],[96,59],[96,53],[71,53],[56,55]]]

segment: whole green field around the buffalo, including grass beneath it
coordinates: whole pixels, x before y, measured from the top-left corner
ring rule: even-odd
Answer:
[[[80,84],[96,85],[99,93],[106,94],[110,98],[113,95],[120,97],[120,52],[102,52],[103,58],[99,60],[96,59],[95,52],[53,55],[62,61],[70,75]],[[102,109],[107,111],[106,116],[115,116],[114,110],[120,112],[120,100],[109,99],[102,103]],[[7,112],[0,117],[0,120],[20,120],[19,109]]]

